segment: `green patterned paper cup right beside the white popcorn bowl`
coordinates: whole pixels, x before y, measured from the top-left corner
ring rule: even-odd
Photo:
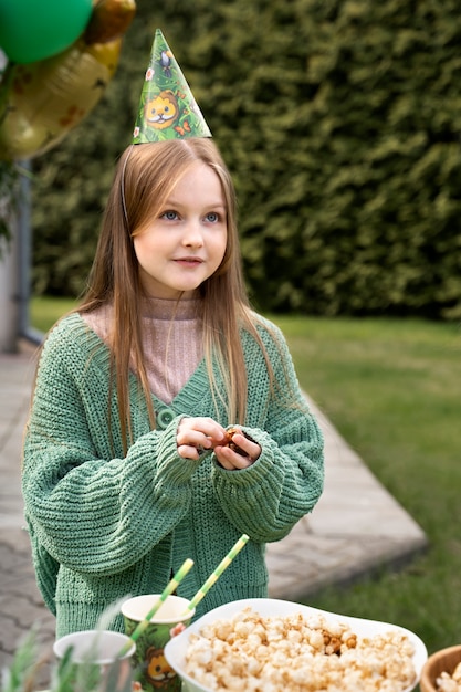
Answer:
[[[126,635],[132,635],[159,598],[158,594],[128,598],[122,606]],[[188,626],[195,609],[187,610],[189,601],[180,596],[168,596],[149,625],[136,640],[134,659],[138,665],[136,679],[143,692],[178,692],[181,680],[168,664],[164,648],[178,625]]]

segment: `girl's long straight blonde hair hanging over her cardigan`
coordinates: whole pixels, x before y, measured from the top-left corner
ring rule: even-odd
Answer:
[[[104,304],[113,306],[111,382],[116,388],[118,417],[125,452],[133,441],[128,375],[134,364],[147,402],[150,424],[155,412],[143,358],[139,318],[138,262],[133,235],[156,216],[171,190],[196,161],[218,175],[227,207],[227,248],[222,262],[199,289],[203,325],[203,353],[214,400],[228,408],[228,422],[243,423],[248,381],[241,343],[241,328],[250,332],[265,350],[254,326],[244,287],[237,229],[235,192],[230,174],[211,139],[189,138],[132,145],[122,155],[108,197],[88,287],[77,311],[92,312]],[[212,363],[218,365],[226,391],[217,387]],[[266,358],[272,377],[272,370]],[[111,407],[109,407],[111,410]]]

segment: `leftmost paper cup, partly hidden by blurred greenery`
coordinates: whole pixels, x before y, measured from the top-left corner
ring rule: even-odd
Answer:
[[[106,679],[112,670],[117,680],[123,682],[133,677],[135,642],[123,657],[118,653],[129,641],[129,637],[122,632],[84,630],[57,639],[53,644],[53,651],[60,661],[70,652],[72,662],[70,677],[73,681],[94,685]]]

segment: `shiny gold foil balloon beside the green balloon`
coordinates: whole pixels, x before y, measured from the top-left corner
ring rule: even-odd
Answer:
[[[102,0],[83,36],[64,52],[7,66],[0,84],[0,158],[44,154],[94,108],[115,73],[135,7],[134,0]]]

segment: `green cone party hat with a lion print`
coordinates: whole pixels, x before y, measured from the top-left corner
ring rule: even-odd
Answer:
[[[184,137],[211,137],[211,133],[164,34],[157,29],[133,144]]]

